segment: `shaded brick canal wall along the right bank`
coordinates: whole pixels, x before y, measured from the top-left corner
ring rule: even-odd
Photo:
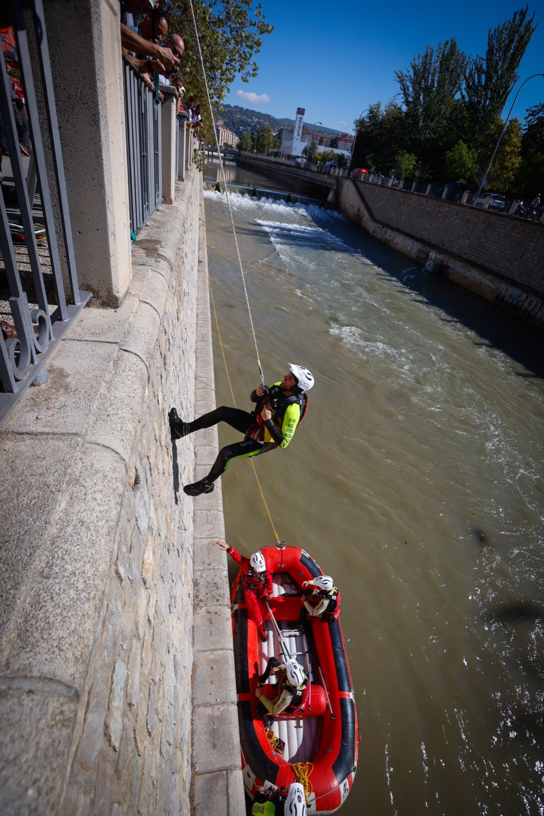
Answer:
[[[350,179],[333,197],[380,241],[544,327],[542,224]]]

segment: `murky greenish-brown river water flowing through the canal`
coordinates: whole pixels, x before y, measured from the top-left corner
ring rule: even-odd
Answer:
[[[289,362],[316,380],[288,449],[254,462],[279,538],[342,592],[361,731],[342,816],[542,814],[542,335],[337,213],[230,202],[265,381]],[[206,222],[249,410],[259,376],[223,194],[206,193]],[[222,486],[227,540],[247,554],[274,543],[251,464],[231,463]]]

